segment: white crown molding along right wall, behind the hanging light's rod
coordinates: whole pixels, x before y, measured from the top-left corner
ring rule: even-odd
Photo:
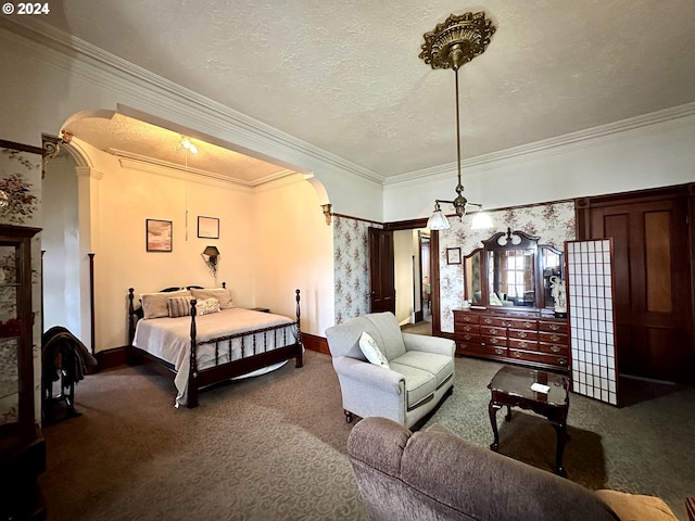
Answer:
[[[686,103],[684,105],[665,109],[662,111],[644,114],[642,116],[622,119],[620,122],[609,123],[598,127],[566,134],[564,136],[557,136],[543,141],[536,141],[534,143],[523,144],[513,149],[502,150],[500,152],[470,157],[462,162],[462,169],[466,170],[481,166],[515,164],[565,153],[570,150],[585,149],[593,147],[598,139],[618,139],[627,132],[634,132],[641,129],[693,116],[695,116],[695,103]],[[456,171],[456,162],[393,176],[386,179],[383,185],[407,183],[408,181],[421,181],[422,179],[432,181],[450,177],[452,171]]]

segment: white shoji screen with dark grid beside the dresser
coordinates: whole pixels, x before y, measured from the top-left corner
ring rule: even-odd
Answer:
[[[612,240],[567,241],[572,391],[619,405]]]

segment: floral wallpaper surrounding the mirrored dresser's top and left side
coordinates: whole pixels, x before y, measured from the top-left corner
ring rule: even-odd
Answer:
[[[442,331],[454,332],[454,309],[459,309],[464,302],[464,270],[463,265],[446,264],[446,249],[460,247],[465,257],[477,247],[481,241],[490,239],[498,231],[521,230],[539,236],[541,244],[549,244],[559,251],[565,247],[565,241],[576,239],[574,203],[551,203],[536,206],[488,212],[493,227],[482,230],[470,228],[472,217],[465,215],[463,221],[457,217],[450,217],[452,227],[439,233],[439,269],[441,295],[441,328]]]

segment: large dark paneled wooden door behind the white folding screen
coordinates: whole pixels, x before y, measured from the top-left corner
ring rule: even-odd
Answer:
[[[580,211],[580,234],[614,239],[620,372],[687,382],[695,357],[686,190],[596,199]]]

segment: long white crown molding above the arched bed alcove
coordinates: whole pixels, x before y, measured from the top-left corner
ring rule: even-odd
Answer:
[[[338,169],[379,185],[384,181],[383,176],[186,89],[36,17],[3,16],[0,27],[30,43],[13,41],[0,34],[3,47],[13,52],[181,116],[201,131],[309,170]]]

